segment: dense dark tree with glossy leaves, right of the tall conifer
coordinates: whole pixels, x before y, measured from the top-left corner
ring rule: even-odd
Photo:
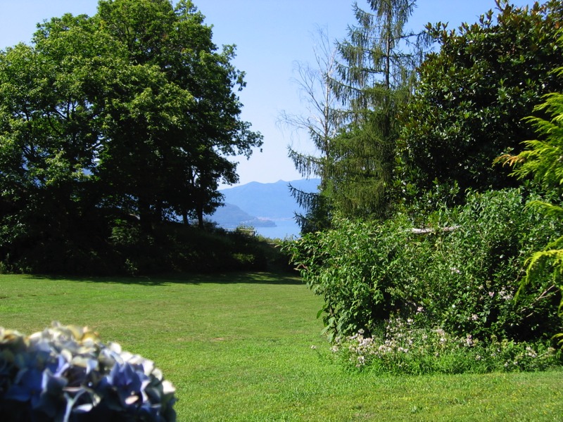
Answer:
[[[563,64],[561,2],[518,8],[498,0],[497,7],[494,18],[489,11],[457,31],[442,23],[427,28],[440,49],[419,68],[398,154],[398,188],[409,201],[435,184],[456,182],[458,202],[467,188],[517,186],[492,162],[521,151],[533,136],[522,119],[543,94],[563,89],[550,73]]]

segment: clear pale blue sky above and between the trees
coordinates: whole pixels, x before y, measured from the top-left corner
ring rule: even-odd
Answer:
[[[514,0],[522,6],[532,1]],[[29,42],[36,24],[64,13],[96,13],[97,0],[0,0],[0,49],[20,41]],[[330,39],[343,39],[353,25],[352,1],[348,0],[194,0],[213,25],[217,46],[236,44],[234,64],[246,72],[247,87],[240,93],[243,120],[264,135],[262,153],[240,162],[240,183],[269,183],[301,179],[287,158],[287,146],[310,149],[306,136],[292,137],[276,124],[282,110],[301,113],[295,77],[295,62],[313,62],[313,34],[327,28]],[[367,2],[359,0],[360,6]],[[366,6],[367,7],[367,6]],[[494,0],[419,0],[410,20],[413,30],[428,22],[448,22],[454,28],[474,23],[479,15],[495,8]]]

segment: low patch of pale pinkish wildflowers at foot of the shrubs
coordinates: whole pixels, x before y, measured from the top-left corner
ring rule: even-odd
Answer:
[[[442,328],[419,327],[413,319],[389,319],[382,333],[362,331],[337,338],[336,359],[350,369],[378,374],[488,373],[545,371],[560,366],[548,342],[514,343],[495,336],[479,341],[471,334],[449,335]],[[547,344],[546,344],[547,343]]]

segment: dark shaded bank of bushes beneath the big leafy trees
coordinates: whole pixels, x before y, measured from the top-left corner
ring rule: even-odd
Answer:
[[[118,219],[112,231],[92,241],[52,238],[15,250],[0,264],[5,272],[80,275],[144,275],[177,271],[239,271],[280,267],[279,250],[267,241],[215,226],[205,229],[175,222],[141,229],[134,219]],[[30,252],[31,251],[31,252]],[[287,261],[287,259],[286,259]]]

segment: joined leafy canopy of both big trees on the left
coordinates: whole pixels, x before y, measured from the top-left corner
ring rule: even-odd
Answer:
[[[237,179],[229,156],[262,142],[240,119],[234,47],[211,40],[191,1],[103,0],[0,51],[0,260],[93,262],[133,216],[146,236],[203,226]]]

